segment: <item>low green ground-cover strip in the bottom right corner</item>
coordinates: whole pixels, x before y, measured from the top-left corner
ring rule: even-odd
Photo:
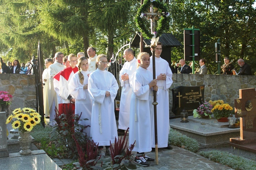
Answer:
[[[256,162],[254,160],[246,159],[228,152],[212,150],[202,151],[199,154],[209,160],[215,161],[219,164],[226,165],[236,170],[254,170],[256,169]]]

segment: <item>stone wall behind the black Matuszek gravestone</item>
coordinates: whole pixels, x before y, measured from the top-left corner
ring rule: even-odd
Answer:
[[[172,110],[172,91],[177,86],[200,86],[204,84],[204,101],[222,99],[234,107],[239,89],[256,88],[256,76],[173,74],[169,89],[169,109]]]

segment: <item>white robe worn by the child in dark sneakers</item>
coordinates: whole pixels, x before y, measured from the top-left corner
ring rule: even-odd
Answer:
[[[153,88],[150,89],[148,86],[153,80],[152,77],[147,69],[139,67],[130,80],[133,93],[130,106],[129,145],[136,141],[132,151],[139,153],[152,150],[150,107],[153,107]]]

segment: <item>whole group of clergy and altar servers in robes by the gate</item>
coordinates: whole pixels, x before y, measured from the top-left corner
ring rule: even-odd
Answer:
[[[152,57],[148,53],[140,53],[137,59],[134,51],[124,51],[126,62],[119,73],[122,88],[118,129],[115,121],[114,99],[119,89],[114,75],[107,71],[106,55],[96,55],[96,49],[89,47],[85,57],[83,52],[77,55],[55,54],[54,60],[45,60],[44,111],[49,117],[50,125],[54,125],[55,107],[61,114],[64,108],[72,107],[75,114],[82,112],[88,120],[81,124],[88,126],[86,134],[99,144],[99,155],[110,154],[110,141],[114,143],[118,135],[129,130],[129,145],[134,144],[133,151],[138,155],[134,163],[149,166],[153,158],[145,152],[155,149],[153,91],[157,91],[158,103],[158,148],[172,149],[168,145],[169,134],[169,95],[172,84],[172,72],[167,61],[160,55],[161,43],[156,48],[156,79],[152,75]],[[146,129],[146,131],[145,131]],[[106,151],[103,151],[105,146]]]

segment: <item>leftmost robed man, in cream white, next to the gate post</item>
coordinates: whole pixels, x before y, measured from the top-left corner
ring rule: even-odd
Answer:
[[[48,67],[53,64],[53,59],[51,58],[47,58],[44,61],[44,65],[45,65],[45,69],[43,71],[42,74],[42,78],[43,78],[43,99],[44,99],[44,114],[45,117],[49,117],[49,102],[48,102],[48,88],[49,88],[49,81],[47,81],[48,79]]]

